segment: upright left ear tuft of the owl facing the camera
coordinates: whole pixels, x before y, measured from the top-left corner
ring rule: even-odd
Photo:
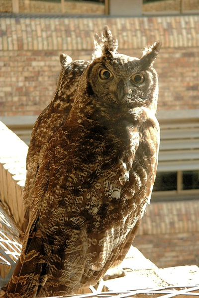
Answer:
[[[108,29],[108,26],[104,26],[101,36],[97,33],[94,34],[94,53],[93,59],[99,58],[103,54],[108,52],[116,52],[118,48],[117,39],[112,37],[111,31]]]

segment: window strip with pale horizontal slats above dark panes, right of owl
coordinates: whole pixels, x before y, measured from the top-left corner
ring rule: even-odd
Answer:
[[[160,150],[152,200],[199,198],[199,119],[160,120]]]

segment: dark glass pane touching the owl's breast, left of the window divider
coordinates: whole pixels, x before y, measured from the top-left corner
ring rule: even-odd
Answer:
[[[158,172],[153,191],[177,190],[177,172]]]

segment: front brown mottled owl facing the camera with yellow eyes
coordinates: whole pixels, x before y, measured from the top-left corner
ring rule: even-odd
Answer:
[[[32,191],[22,251],[6,297],[71,295],[95,285],[133,242],[156,176],[161,42],[140,59],[94,35],[65,123],[48,143]]]

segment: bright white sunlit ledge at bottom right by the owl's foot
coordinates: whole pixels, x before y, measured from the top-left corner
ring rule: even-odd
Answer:
[[[104,281],[105,291],[124,293],[124,291],[137,289],[157,289],[198,284],[198,266],[159,269],[133,246],[131,246],[120,267],[129,268],[126,270],[126,276]]]

